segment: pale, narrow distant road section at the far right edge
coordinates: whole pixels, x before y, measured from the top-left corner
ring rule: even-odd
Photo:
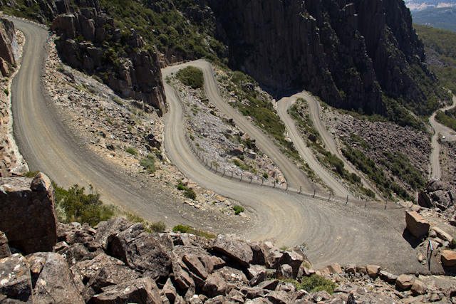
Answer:
[[[452,108],[456,107],[456,96],[453,95],[453,104],[450,105],[449,107],[442,108],[440,110],[446,111],[450,110]],[[434,128],[434,135],[432,136],[432,152],[430,154],[430,167],[431,167],[431,172],[432,172],[432,177],[441,177],[442,176],[442,170],[440,169],[440,144],[438,142],[438,137],[439,133],[442,136],[445,136],[448,141],[453,141],[456,140],[456,132],[455,130],[450,129],[449,127],[445,127],[445,125],[442,125],[439,122],[435,121],[435,114],[437,111],[435,111],[431,117],[429,117],[429,122],[430,125]]]

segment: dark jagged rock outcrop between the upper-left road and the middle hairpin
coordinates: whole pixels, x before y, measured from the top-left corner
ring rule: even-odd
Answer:
[[[155,47],[145,50],[135,30],[121,31],[94,8],[58,16],[51,29],[58,33],[56,46],[68,65],[99,75],[120,95],[165,110],[160,53]],[[120,53],[116,43],[125,46]]]

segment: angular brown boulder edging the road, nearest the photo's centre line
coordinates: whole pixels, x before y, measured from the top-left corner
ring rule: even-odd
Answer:
[[[247,243],[219,234],[211,243],[212,250],[219,251],[247,266],[253,258],[253,251]]]

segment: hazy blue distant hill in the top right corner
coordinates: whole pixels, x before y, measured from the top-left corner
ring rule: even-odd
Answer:
[[[456,32],[456,7],[412,11],[414,23]]]

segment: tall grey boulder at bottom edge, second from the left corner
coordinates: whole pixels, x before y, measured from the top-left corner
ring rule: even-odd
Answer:
[[[33,282],[36,282],[33,288],[33,303],[85,303],[65,259],[60,254],[38,252],[27,258],[29,261],[37,259],[41,261],[37,265],[42,265],[42,268],[39,267],[41,270],[32,275]]]

